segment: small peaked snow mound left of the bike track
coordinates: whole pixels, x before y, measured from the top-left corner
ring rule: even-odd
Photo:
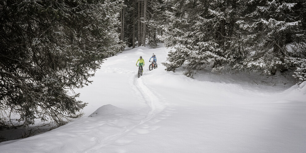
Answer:
[[[94,113],[89,115],[88,117],[102,116],[102,115],[110,115],[110,114],[118,114],[118,113],[127,113],[128,110],[118,108],[111,104],[103,105],[98,108]]]

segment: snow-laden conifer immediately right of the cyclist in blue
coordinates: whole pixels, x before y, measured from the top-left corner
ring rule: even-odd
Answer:
[[[174,71],[185,64],[185,75],[192,77],[194,70],[224,68],[244,56],[235,45],[235,1],[166,2],[174,6],[166,27],[166,46],[175,48],[168,55],[170,63],[163,63],[166,70]]]

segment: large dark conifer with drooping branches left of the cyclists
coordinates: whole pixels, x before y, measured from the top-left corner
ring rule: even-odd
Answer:
[[[82,116],[73,89],[120,51],[119,1],[0,1],[2,122],[13,113],[23,125]]]

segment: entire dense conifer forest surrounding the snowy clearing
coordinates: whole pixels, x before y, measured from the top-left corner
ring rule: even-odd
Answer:
[[[3,0],[0,129],[82,116],[73,89],[127,46],[164,42],[166,70],[183,66],[191,78],[205,68],[294,70],[305,81],[305,29],[304,0]]]

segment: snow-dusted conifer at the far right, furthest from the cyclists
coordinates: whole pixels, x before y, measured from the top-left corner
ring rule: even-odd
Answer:
[[[298,52],[304,47],[297,46],[304,44],[302,25],[305,23],[298,18],[297,12],[302,10],[295,2],[250,1],[245,4],[251,11],[238,22],[247,32],[241,37],[242,44],[246,44],[245,49],[249,52],[253,51],[244,60],[247,69],[274,75],[299,63],[301,54]]]

